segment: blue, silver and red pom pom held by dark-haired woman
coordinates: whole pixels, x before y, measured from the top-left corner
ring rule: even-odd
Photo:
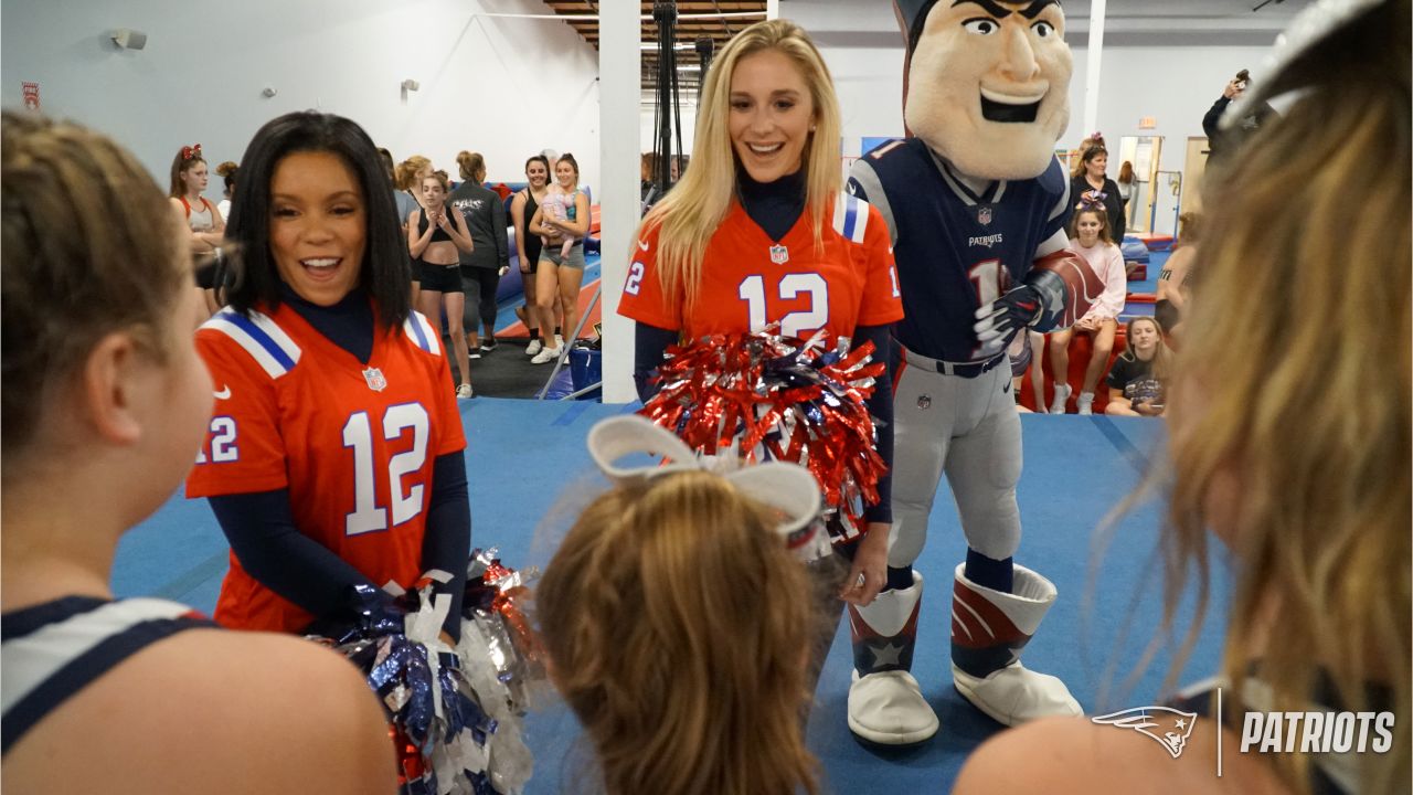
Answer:
[[[472,555],[462,637],[439,637],[449,598],[431,573],[415,590],[360,586],[341,617],[317,621],[311,639],[363,672],[389,717],[406,795],[509,795],[533,772],[521,740],[530,700],[547,683],[538,646],[520,610],[524,577],[495,550]]]

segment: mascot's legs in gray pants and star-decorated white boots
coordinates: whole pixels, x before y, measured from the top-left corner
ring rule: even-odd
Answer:
[[[945,474],[969,547],[995,560],[1020,545],[1020,420],[1005,356],[951,365],[903,352],[893,398],[893,538],[889,566],[910,567],[923,550],[937,488]],[[1081,714],[1054,676],[1027,671],[1019,654],[1054,603],[1056,587],[1015,567],[1013,593],[954,571],[952,682],[978,709],[1015,726],[1050,714]],[[849,729],[900,745],[931,737],[938,721],[911,676],[923,577],[889,590],[865,608],[849,607],[855,646]]]

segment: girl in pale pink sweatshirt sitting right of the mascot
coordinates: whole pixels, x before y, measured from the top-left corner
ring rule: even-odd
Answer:
[[[1119,311],[1128,296],[1128,274],[1123,272],[1123,255],[1109,236],[1109,218],[1102,204],[1087,204],[1074,214],[1070,228],[1070,249],[1078,252],[1089,267],[1104,280],[1104,294],[1074,327],[1050,335],[1050,369],[1056,379],[1056,396],[1050,403],[1051,414],[1065,413],[1071,388],[1065,383],[1070,372],[1070,338],[1075,334],[1094,337],[1094,351],[1089,368],[1084,371],[1084,385],[1075,406],[1081,414],[1092,413],[1094,389],[1109,364],[1113,351],[1113,332],[1119,328]]]

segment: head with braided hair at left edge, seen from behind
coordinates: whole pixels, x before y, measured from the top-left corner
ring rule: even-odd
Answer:
[[[147,170],[97,133],[7,112],[0,153],[7,488],[114,448],[140,455],[138,491],[160,504],[211,412],[187,238]]]

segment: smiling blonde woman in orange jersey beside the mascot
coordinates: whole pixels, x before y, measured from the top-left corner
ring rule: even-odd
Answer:
[[[820,332],[827,349],[872,342],[875,361],[889,361],[887,330],[903,313],[887,228],[876,208],[841,190],[838,156],[834,83],[805,33],[777,20],[738,34],[706,75],[692,166],[643,221],[619,303],[637,321],[644,400],[670,344],[771,324],[784,337]],[[890,383],[880,375],[869,399],[889,464]],[[811,562],[831,618],[815,638],[815,675],[839,597],[868,604],[883,587],[889,488],[879,481],[862,533]]]

